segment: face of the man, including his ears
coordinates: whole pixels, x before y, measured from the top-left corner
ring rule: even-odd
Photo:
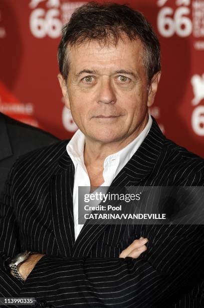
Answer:
[[[147,123],[159,80],[147,90],[141,41],[124,38],[115,47],[93,40],[69,50],[67,84],[59,80],[79,129],[100,143],[133,140]]]

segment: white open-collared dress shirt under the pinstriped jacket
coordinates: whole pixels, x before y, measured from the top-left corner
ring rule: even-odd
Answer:
[[[104,160],[103,178],[104,183],[101,186],[110,186],[117,174],[131,159],[133,154],[136,152],[146,135],[148,134],[152,125],[152,118],[149,114],[149,119],[145,128],[141,133],[124,148],[118,152],[111,154]],[[69,143],[67,144],[67,152],[70,156],[74,167],[74,187],[73,187],[73,214],[74,214],[74,230],[75,230],[75,241],[83,227],[83,224],[78,224],[78,187],[88,186],[90,187],[90,179],[84,164],[84,144],[85,135],[81,130],[77,130],[73,135]]]

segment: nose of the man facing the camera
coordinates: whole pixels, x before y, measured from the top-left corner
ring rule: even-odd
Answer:
[[[114,87],[111,85],[111,80],[109,77],[104,78],[101,81],[99,90],[98,90],[98,103],[103,104],[115,104],[116,95]]]

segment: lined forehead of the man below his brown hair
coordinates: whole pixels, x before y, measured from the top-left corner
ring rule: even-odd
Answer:
[[[143,69],[143,46],[140,39],[119,39],[117,44],[101,44],[96,40],[68,47],[70,69]]]

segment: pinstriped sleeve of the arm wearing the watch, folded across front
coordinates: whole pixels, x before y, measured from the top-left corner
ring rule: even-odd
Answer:
[[[201,173],[184,183],[193,184],[203,185]],[[44,256],[21,296],[59,307],[150,308],[203,279],[203,225],[144,225],[142,236],[149,242],[137,259]]]

